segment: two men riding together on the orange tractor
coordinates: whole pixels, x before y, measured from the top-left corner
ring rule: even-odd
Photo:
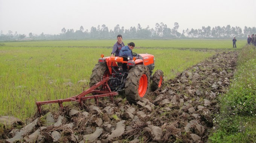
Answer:
[[[133,59],[133,48],[135,47],[135,44],[133,42],[128,43],[128,46],[125,46],[123,43],[123,37],[122,35],[117,35],[117,42],[113,46],[113,50],[111,52],[111,57],[115,56],[123,56],[123,57],[130,57],[130,59]]]

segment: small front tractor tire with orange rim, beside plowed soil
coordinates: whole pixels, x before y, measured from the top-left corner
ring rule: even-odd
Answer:
[[[160,88],[163,83],[163,71],[157,70],[151,78],[151,91],[155,91]]]

